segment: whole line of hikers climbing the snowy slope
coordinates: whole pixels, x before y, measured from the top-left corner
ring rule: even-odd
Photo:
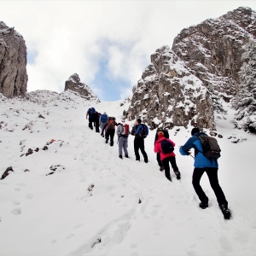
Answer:
[[[135,125],[131,131],[129,125],[116,123],[114,117],[108,117],[107,113],[97,113],[95,108],[89,108],[86,113],[86,119],[89,116],[89,127],[93,130],[92,123],[101,125],[102,133],[106,143],[108,143],[110,137],[110,146],[113,146],[113,137],[115,132],[115,126],[117,126],[116,134],[118,136],[119,144],[119,158],[123,159],[123,149],[125,152],[125,158],[128,156],[128,137],[131,134],[134,136],[134,153],[136,160],[140,161],[140,154],[143,154],[145,163],[148,163],[148,154],[145,151],[144,139],[148,136],[148,126],[142,124],[141,119],[137,119]],[[96,120],[97,119],[97,120]],[[96,126],[96,132],[99,125]],[[226,201],[224,192],[218,183],[218,158],[220,157],[220,148],[218,142],[213,137],[208,137],[206,133],[201,132],[198,128],[193,128],[191,131],[189,140],[179,148],[179,152],[182,155],[191,155],[191,148],[195,148],[195,169],[192,177],[192,184],[195,189],[195,193],[198,195],[201,203],[199,207],[206,209],[208,207],[208,197],[201,188],[200,180],[204,172],[207,172],[212,189],[216,195],[218,206],[224,214],[225,219],[230,219],[230,210],[228,208],[228,201]],[[177,180],[181,178],[181,173],[178,170],[176,163],[176,154],[174,154],[175,143],[169,138],[169,133],[163,129],[157,129],[154,138],[154,153],[156,153],[156,160],[160,166],[160,171],[165,170],[166,178],[172,182],[170,173],[170,166],[172,166]]]

